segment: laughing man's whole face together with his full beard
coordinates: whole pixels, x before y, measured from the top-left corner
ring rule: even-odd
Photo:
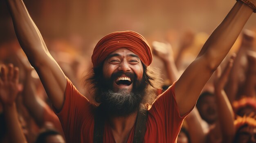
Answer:
[[[120,48],[108,55],[101,87],[108,114],[125,116],[139,108],[147,85],[143,75],[142,62],[132,51]]]

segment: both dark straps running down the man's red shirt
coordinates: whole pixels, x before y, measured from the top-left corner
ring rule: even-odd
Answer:
[[[146,122],[148,118],[147,110],[140,110],[137,115],[135,131],[132,143],[142,143],[146,132]],[[94,133],[93,143],[103,143],[104,135],[104,118],[100,114],[99,110],[96,110],[94,116]]]

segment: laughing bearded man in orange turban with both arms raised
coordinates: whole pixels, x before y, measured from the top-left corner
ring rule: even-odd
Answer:
[[[252,2],[256,4],[256,0]],[[55,112],[62,123],[65,139],[67,142],[89,143],[97,140],[93,137],[96,106],[74,88],[49,54],[23,2],[7,0],[7,4],[20,45],[52,100]],[[157,97],[152,107],[148,109],[148,117],[144,122],[146,123],[145,136],[144,139],[142,138],[144,142],[175,142],[184,117],[193,109],[202,88],[234,44],[253,12],[251,7],[245,2],[236,2],[225,20],[204,44],[198,58],[191,63],[173,86]],[[117,43],[124,46],[118,46]],[[103,122],[101,141],[130,143],[137,138],[133,133],[136,130],[134,126],[139,110],[139,103],[131,101],[138,100],[143,103],[144,89],[147,89],[146,86],[151,86],[144,81],[145,70],[149,69],[148,66],[152,62],[150,48],[138,33],[132,31],[111,33],[100,40],[94,48],[92,62],[94,72],[99,71],[97,68],[102,68],[99,71],[102,73],[99,80],[102,80],[101,83],[106,83],[102,88],[97,87],[97,82],[95,84],[96,88],[102,90],[102,92],[98,91],[102,97],[95,95],[96,99],[100,97],[98,101],[102,102],[102,106],[99,106],[100,111],[107,111],[106,116],[103,116],[106,117],[106,121]],[[94,74],[99,75],[99,73]],[[117,103],[124,103],[126,106],[112,104],[113,100],[110,97],[119,98]],[[96,118],[95,121],[98,119]]]

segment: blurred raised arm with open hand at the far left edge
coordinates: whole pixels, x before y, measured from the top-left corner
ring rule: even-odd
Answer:
[[[27,143],[18,119],[16,97],[18,95],[18,68],[13,65],[1,67],[0,102],[3,105],[4,118],[10,143]]]

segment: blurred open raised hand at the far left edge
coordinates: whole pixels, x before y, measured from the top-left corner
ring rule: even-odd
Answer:
[[[1,66],[0,101],[3,105],[11,105],[18,95],[19,69],[9,64]]]

